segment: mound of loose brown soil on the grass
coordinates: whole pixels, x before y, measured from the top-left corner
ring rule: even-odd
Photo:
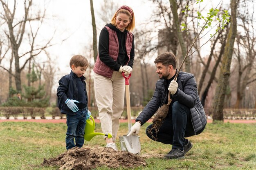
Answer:
[[[146,166],[146,161],[130,152],[112,148],[72,148],[56,158],[44,159],[43,166],[58,166],[60,170],[90,170],[106,166],[108,168],[135,168]]]

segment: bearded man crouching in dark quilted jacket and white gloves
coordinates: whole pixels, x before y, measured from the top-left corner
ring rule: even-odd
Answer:
[[[148,130],[152,128],[152,124],[149,125],[146,135],[155,141],[172,145],[171,151],[164,158],[182,159],[193,146],[184,137],[200,134],[207,124],[195,77],[190,73],[179,72],[177,82],[173,80],[177,73],[177,60],[173,53],[160,54],[154,63],[160,80],[156,83],[153,97],[136,118],[136,123],[127,136],[138,135],[140,126],[146,123],[159,107],[168,103],[168,91],[170,91],[172,102],[162,126],[157,133],[152,130],[150,134]]]

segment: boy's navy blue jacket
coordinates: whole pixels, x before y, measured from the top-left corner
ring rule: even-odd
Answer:
[[[77,82],[77,80],[81,79],[82,83]],[[77,77],[73,71],[70,72],[69,75],[65,75],[61,77],[59,80],[59,86],[57,88],[57,96],[58,96],[58,108],[61,110],[61,113],[68,115],[76,115],[75,112],[70,110],[65,104],[67,99],[73,99],[79,101],[79,103],[75,103],[79,109],[86,108],[88,105],[88,97],[86,91],[86,83],[85,77]],[[83,84],[83,86],[81,86]],[[79,91],[80,89],[80,91]],[[81,90],[84,90],[85,95],[81,94]],[[83,97],[81,99],[81,96]]]

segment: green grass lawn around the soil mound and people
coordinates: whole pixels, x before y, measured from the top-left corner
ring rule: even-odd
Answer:
[[[161,144],[146,137],[141,127],[140,155],[166,154],[171,145]],[[96,124],[95,132],[101,132]],[[122,123],[119,136],[127,134],[128,127]],[[0,123],[0,170],[52,170],[41,167],[44,158],[56,157],[65,152],[66,124],[40,124],[31,122]],[[200,135],[188,138],[193,148],[182,160],[146,159],[145,170],[256,170],[256,125],[217,123],[207,124]],[[117,139],[118,140],[118,139]],[[102,136],[85,141],[85,146],[105,146]],[[117,142],[120,149],[120,144]],[[106,167],[100,167],[104,170]],[[120,168],[121,169],[121,168]]]

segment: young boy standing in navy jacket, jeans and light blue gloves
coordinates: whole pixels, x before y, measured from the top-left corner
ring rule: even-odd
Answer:
[[[67,115],[66,149],[75,146],[81,148],[84,143],[86,120],[90,118],[85,77],[89,66],[88,60],[82,55],[74,55],[70,60],[72,71],[59,80],[57,89],[58,108]],[[76,144],[74,142],[74,138]]]

